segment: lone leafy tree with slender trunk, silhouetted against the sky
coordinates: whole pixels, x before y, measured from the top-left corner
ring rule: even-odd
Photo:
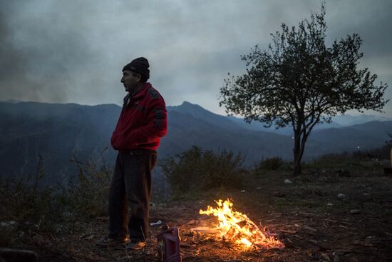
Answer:
[[[357,69],[363,54],[357,34],[327,47],[324,5],[320,14],[291,29],[272,35],[267,51],[258,46],[242,56],[247,74],[225,79],[220,106],[227,113],[244,116],[247,122],[294,129],[294,174],[301,173],[306,140],[316,124],[351,109],[381,111],[388,87],[376,86],[377,76]]]

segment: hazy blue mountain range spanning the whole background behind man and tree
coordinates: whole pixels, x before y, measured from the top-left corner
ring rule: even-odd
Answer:
[[[106,146],[108,163],[116,152],[110,136],[120,114],[114,104],[81,106],[35,102],[0,103],[0,177],[19,176],[36,171],[38,154],[43,156],[48,183],[68,181],[77,173],[69,159],[98,158]],[[246,124],[241,119],[220,116],[201,106],[184,102],[167,106],[168,132],[162,139],[160,158],[174,156],[191,146],[220,151],[241,152],[246,163],[262,158],[292,158],[292,135],[262,126]],[[306,145],[304,158],[324,153],[376,148],[388,140],[392,121],[318,129]]]

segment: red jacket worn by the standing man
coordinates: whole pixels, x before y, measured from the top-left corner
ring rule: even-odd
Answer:
[[[167,132],[165,101],[150,83],[135,96],[125,96],[123,110],[113,131],[111,144],[116,150],[147,148],[156,150]]]

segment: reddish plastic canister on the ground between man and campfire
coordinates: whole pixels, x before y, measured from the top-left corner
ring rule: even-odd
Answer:
[[[163,226],[158,234],[158,261],[182,262],[178,228]]]

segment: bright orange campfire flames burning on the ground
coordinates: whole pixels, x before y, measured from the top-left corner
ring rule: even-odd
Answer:
[[[227,199],[215,201],[217,208],[207,206],[206,211],[200,209],[203,215],[217,216],[219,225],[217,226],[217,238],[223,241],[233,241],[242,248],[284,248],[284,244],[271,236],[263,233],[259,227],[253,223],[247,215],[238,211],[233,211],[233,203]]]

